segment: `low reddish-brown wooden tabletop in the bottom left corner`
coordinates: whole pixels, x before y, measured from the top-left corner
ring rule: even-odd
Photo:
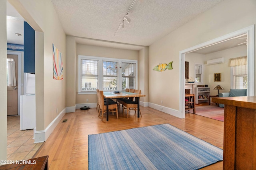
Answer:
[[[0,170],[48,170],[48,155],[28,159],[24,162],[5,164],[0,166]]]

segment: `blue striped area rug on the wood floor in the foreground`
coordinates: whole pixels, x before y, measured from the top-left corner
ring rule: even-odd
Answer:
[[[196,170],[223,150],[170,124],[88,136],[89,170]]]

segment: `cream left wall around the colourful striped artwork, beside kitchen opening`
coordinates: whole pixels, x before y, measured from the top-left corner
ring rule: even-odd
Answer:
[[[39,32],[38,41],[41,42],[37,42],[39,46],[36,49],[36,130],[44,131],[66,107],[66,34],[50,0],[9,2]],[[62,53],[64,80],[53,79],[52,44]]]

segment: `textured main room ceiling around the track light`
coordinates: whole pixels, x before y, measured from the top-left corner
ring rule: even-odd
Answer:
[[[149,46],[222,0],[52,0],[67,35]]]

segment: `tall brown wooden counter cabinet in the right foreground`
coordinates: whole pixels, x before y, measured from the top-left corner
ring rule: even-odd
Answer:
[[[224,170],[256,169],[256,96],[212,98],[224,104]]]

